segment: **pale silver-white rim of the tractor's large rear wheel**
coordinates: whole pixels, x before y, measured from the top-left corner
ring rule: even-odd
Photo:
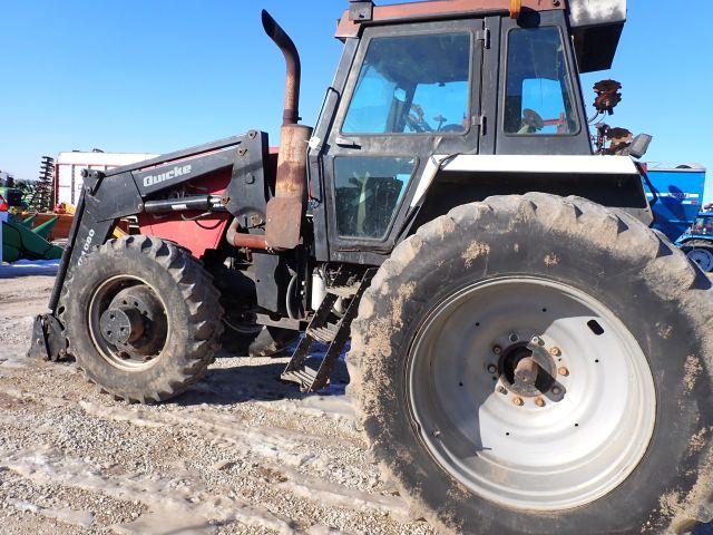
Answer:
[[[558,396],[512,392],[504,374],[505,356],[535,335]],[[411,347],[407,388],[438,464],[511,508],[561,510],[609,494],[637,467],[655,425],[654,380],[634,337],[602,303],[554,281],[501,278],[446,300]]]

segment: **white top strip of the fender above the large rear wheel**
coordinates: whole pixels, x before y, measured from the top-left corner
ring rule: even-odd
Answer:
[[[443,165],[440,165],[440,163]],[[595,175],[638,175],[628,156],[544,156],[544,155],[446,155],[431,156],[411,201],[414,206],[430,187],[440,168],[472,173],[567,173]]]

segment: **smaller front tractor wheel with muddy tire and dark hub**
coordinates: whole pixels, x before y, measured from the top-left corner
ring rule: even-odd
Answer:
[[[170,242],[111,240],[84,257],[67,290],[69,350],[89,381],[118,398],[173,398],[203,377],[219,349],[219,294],[201,263]],[[109,312],[121,303],[141,325],[130,343],[107,334]]]

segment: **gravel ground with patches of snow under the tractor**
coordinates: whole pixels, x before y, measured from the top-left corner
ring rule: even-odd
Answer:
[[[25,358],[53,279],[0,279],[2,534],[430,534],[383,480],[344,385],[304,397],[286,359],[225,354],[162,406]]]

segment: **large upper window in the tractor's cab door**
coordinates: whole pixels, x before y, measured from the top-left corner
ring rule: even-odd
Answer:
[[[465,133],[470,35],[373,39],[359,74],[344,134]]]

